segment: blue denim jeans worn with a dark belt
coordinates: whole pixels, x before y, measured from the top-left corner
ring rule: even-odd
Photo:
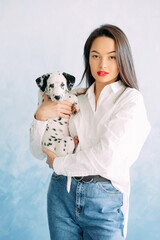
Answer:
[[[48,189],[51,240],[122,240],[123,194],[107,182],[77,182],[53,173]]]

